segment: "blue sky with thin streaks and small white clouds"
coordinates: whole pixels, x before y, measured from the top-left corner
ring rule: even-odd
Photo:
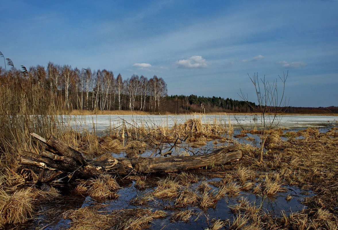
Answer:
[[[338,1],[1,0],[0,15],[0,51],[16,68],[157,75],[169,95],[251,101],[248,74],[288,71],[290,106],[338,106]]]

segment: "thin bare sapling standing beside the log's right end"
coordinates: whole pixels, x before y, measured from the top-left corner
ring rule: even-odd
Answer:
[[[249,74],[248,74],[249,76]],[[278,75],[281,80],[280,87],[277,87],[278,79],[275,79],[272,83],[263,78],[258,77],[258,73],[250,77],[252,84],[255,87],[258,106],[253,106],[248,96],[241,91],[239,95],[255,112],[259,112],[261,116],[261,146],[260,146],[260,162],[263,160],[263,153],[266,139],[269,135],[269,130],[279,125],[281,117],[285,112],[286,99],[285,99],[285,82],[288,77],[288,72],[283,72],[283,77]]]

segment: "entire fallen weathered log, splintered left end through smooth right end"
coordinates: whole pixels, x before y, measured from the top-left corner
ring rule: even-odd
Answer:
[[[48,152],[34,157],[21,157],[19,164],[65,172],[74,178],[89,178],[102,173],[126,175],[134,170],[131,162],[126,158],[85,160],[80,152],[54,136],[46,140],[38,134],[31,135],[45,143]],[[175,172],[225,164],[241,157],[242,151],[239,147],[228,146],[200,156],[140,157],[135,170],[139,173]],[[58,175],[56,173],[55,177]]]

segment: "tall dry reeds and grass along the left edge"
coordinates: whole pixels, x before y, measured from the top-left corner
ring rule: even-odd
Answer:
[[[0,225],[26,222],[33,215],[34,194],[22,189],[18,157],[38,153],[42,145],[30,133],[57,134],[54,102],[38,84],[11,79],[0,86]],[[19,189],[20,188],[20,189]]]

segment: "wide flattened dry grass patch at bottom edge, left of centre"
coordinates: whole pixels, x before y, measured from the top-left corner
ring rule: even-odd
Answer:
[[[149,223],[154,219],[164,218],[164,211],[151,209],[127,209],[116,211],[99,211],[102,207],[84,207],[67,211],[65,219],[72,220],[70,230],[141,230],[149,228]],[[108,213],[108,214],[107,214]]]

